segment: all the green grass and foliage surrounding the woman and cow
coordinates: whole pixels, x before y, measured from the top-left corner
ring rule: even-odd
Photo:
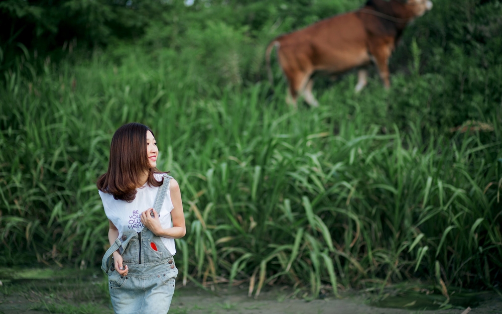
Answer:
[[[0,2],[0,264],[95,268],[95,187],[141,122],[181,186],[179,282],[296,284],[316,297],[502,281],[502,3],[436,0],[390,59],[285,103],[265,48],[353,0]],[[449,299],[449,296],[448,296]]]

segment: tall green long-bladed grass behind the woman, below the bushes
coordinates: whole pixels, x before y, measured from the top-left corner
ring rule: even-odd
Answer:
[[[434,131],[426,116],[396,120],[400,102],[424,102],[403,91],[436,88],[428,76],[396,75],[387,94],[375,80],[354,95],[351,75],[320,95],[320,108],[293,111],[284,85],[201,92],[187,71],[169,54],[132,52],[120,65],[94,57],[46,62],[32,79],[6,73],[3,264],[99,262],[108,224],[95,179],[114,130],[138,121],[181,186],[183,282],[248,281],[258,296],[283,281],[316,296],[410,278],[500,280],[499,117],[483,121],[491,131],[466,133]]]

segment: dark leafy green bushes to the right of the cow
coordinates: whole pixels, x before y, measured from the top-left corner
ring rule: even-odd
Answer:
[[[406,34],[413,35],[403,38],[391,66],[404,68],[415,61],[407,50],[416,41],[420,66],[412,68],[429,76],[435,88],[429,93],[417,86],[410,92],[430,99],[427,110],[432,124],[451,127],[495,115],[502,99],[502,57],[497,53],[502,49],[501,14],[499,1],[435,1],[431,12],[409,26]],[[422,110],[418,104],[403,105],[401,116]]]

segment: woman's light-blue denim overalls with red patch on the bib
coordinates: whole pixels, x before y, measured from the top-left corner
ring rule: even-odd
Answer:
[[[164,175],[154,210],[159,212],[172,177]],[[119,250],[127,276],[115,271],[112,254]],[[113,310],[117,314],[165,314],[171,305],[178,269],[161,238],[147,228],[127,231],[106,251],[101,269],[108,274]]]

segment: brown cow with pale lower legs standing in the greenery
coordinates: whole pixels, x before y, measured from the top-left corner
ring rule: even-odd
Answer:
[[[316,71],[341,73],[359,67],[355,91],[366,85],[364,69],[373,61],[384,85],[389,88],[389,57],[405,26],[432,9],[429,0],[368,0],[354,12],[337,15],[299,31],[281,35],[267,47],[269,80],[270,53],[278,47],[281,68],[288,79],[287,102],[296,107],[303,93],[311,106],[319,106],[312,94]]]

